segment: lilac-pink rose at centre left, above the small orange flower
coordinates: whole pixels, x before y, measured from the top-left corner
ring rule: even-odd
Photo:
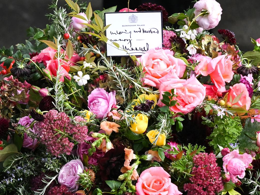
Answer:
[[[113,105],[116,105],[115,91],[107,93],[105,89],[96,88],[88,96],[89,111],[96,114],[98,119],[104,119]]]

